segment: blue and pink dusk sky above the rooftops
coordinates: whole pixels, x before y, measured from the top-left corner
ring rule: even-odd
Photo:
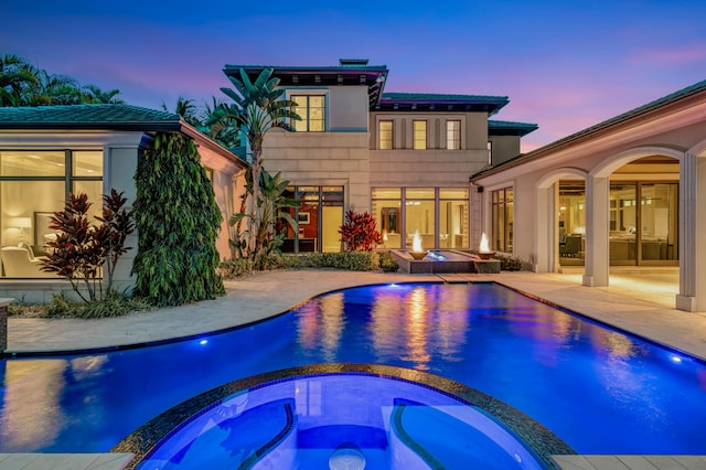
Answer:
[[[507,96],[523,151],[706,79],[704,0],[0,3],[0,54],[129,104],[173,109],[231,84],[225,64],[389,68],[385,92]]]

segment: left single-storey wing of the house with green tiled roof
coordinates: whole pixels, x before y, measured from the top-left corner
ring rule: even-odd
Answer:
[[[128,105],[0,108],[0,297],[50,300],[71,290],[68,282],[39,269],[53,212],[69,192],[85,193],[92,214],[100,213],[110,189],[135,201],[138,159],[156,132],[182,132],[194,140],[213,181],[224,222],[218,252],[228,249],[227,217],[243,189],[246,163],[179,116]],[[239,184],[239,185],[238,185]],[[137,237],[127,241],[137,246]],[[127,286],[136,249],[120,259],[114,280]]]

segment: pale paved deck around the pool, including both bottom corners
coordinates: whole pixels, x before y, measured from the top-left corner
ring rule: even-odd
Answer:
[[[580,285],[580,275],[501,273],[500,275],[405,275],[299,270],[257,273],[226,282],[226,296],[190,306],[135,313],[115,319],[8,320],[8,352],[66,352],[129,346],[191,337],[265,319],[323,292],[341,288],[407,281],[495,280],[563,308],[619,327],[706,360],[706,313],[675,310],[678,276],[611,275],[611,287]],[[73,455],[46,459],[33,453],[0,455],[0,470],[119,470],[130,456]],[[706,469],[698,456],[557,456],[568,469]],[[666,467],[663,467],[665,464]]]

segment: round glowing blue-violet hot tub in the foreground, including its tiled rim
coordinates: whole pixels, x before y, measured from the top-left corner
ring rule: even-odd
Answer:
[[[424,381],[417,382],[420,377]],[[449,387],[504,407],[501,414],[506,417],[521,415],[431,374],[320,364],[199,395],[148,423],[114,450],[137,453],[131,466],[140,469],[545,468],[548,456],[533,451],[511,430],[512,423],[507,426]],[[521,416],[518,423],[526,419]],[[560,442],[541,425],[532,428]]]

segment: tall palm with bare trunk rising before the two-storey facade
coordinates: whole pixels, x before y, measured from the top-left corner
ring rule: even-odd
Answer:
[[[256,227],[261,223],[260,217],[260,174],[263,162],[263,140],[265,133],[275,127],[280,127],[293,131],[293,127],[287,124],[286,119],[301,120],[299,115],[291,110],[297,104],[289,99],[281,99],[285,94],[284,88],[279,88],[279,78],[272,77],[272,68],[264,68],[255,79],[255,83],[247,76],[245,70],[240,68],[240,79],[228,76],[235,90],[221,88],[235,102],[232,105],[220,106],[212,115],[206,125],[213,125],[221,119],[229,119],[240,127],[250,147],[252,171],[253,171],[253,194],[249,203],[249,211],[253,215],[249,222],[249,242],[247,246],[248,257],[253,259],[255,266],[258,265],[263,255],[263,249],[257,244]]]

